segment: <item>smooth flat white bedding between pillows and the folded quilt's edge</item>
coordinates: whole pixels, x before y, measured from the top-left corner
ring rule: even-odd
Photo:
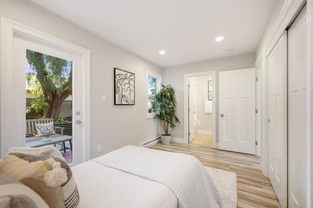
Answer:
[[[177,208],[174,193],[155,181],[89,161],[71,167],[81,208]]]

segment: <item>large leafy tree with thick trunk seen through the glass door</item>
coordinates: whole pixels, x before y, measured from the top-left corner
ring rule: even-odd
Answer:
[[[72,62],[31,50],[26,51],[26,59],[28,85],[35,75],[41,86],[37,91],[48,104],[46,117],[58,118],[63,101],[72,94]]]

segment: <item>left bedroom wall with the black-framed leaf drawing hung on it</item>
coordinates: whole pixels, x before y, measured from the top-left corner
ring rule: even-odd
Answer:
[[[90,50],[91,158],[121,146],[139,145],[157,137],[155,120],[146,119],[146,88],[147,71],[161,74],[160,67],[28,0],[0,0],[0,16]],[[114,67],[135,73],[135,105],[113,104]],[[101,95],[106,95],[106,103],[101,103]],[[97,145],[102,145],[102,152],[97,153]]]

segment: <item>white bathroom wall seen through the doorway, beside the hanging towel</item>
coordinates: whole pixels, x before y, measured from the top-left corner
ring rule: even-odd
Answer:
[[[208,81],[212,80],[211,75],[197,77],[197,118],[198,118],[198,132],[210,131],[213,128],[213,116],[212,113],[204,113],[204,101],[208,100]]]

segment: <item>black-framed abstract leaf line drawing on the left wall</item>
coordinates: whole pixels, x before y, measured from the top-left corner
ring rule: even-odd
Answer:
[[[114,105],[135,104],[135,74],[114,68]]]

